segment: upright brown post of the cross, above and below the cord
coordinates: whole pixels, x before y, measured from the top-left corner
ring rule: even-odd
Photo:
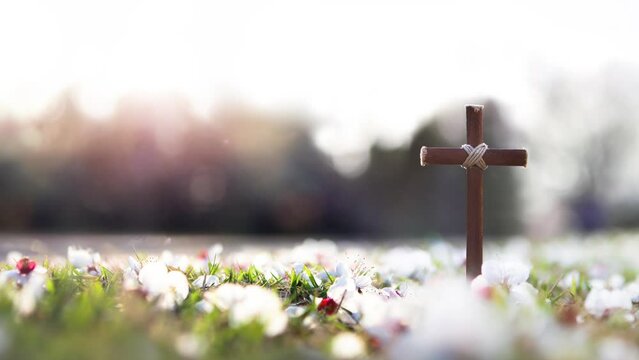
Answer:
[[[484,142],[484,107],[466,106],[466,142],[475,147]],[[484,170],[466,169],[466,276],[481,274],[484,242]]]

